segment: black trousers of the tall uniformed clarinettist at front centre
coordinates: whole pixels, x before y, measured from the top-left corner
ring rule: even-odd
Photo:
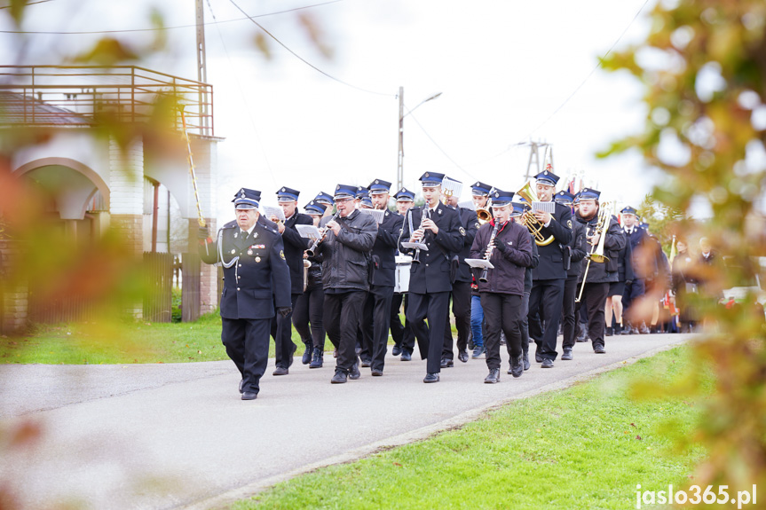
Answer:
[[[449,292],[431,294],[409,293],[407,319],[413,326],[420,355],[427,358],[426,372],[441,372],[441,353],[444,350],[444,325],[449,311]],[[428,318],[428,326],[425,319]]]

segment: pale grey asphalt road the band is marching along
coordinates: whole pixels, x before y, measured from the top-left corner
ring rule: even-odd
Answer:
[[[39,426],[31,446],[0,447],[0,485],[22,507],[69,501],[93,509],[217,508],[315,467],[358,459],[478,418],[487,409],[565,388],[683,341],[688,334],[578,343],[573,361],[484,384],[484,359],[455,362],[423,384],[425,362],[386,358],[385,375],[331,385],[335,365],[296,364],[242,401],[229,361],[174,365],[0,365],[0,425]],[[301,349],[299,349],[299,353]],[[2,436],[0,436],[2,437]]]

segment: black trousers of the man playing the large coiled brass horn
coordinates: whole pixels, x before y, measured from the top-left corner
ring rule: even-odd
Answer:
[[[564,279],[539,279],[529,294],[529,336],[537,343],[543,359],[555,360],[558,320],[564,302]],[[534,316],[540,313],[540,322]],[[542,331],[541,331],[542,327]]]

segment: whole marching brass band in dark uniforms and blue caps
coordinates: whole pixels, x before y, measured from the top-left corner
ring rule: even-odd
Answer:
[[[248,399],[257,396],[265,370],[265,318],[276,344],[273,375],[289,373],[295,326],[304,365],[321,368],[325,336],[332,342],[334,384],[359,379],[360,368],[383,376],[389,333],[391,354],[407,362],[416,342],[426,360],[423,382],[438,382],[442,369],[454,366],[450,301],[457,359],[486,357],[486,383],[500,381],[503,343],[508,373],[517,378],[530,368],[530,340],[535,360],[552,368],[558,347],[566,361],[576,341],[589,338],[600,354],[605,336],[638,332],[622,318],[622,303],[629,307],[644,287],[631,271],[631,254],[647,235],[636,209],[622,209],[618,222],[612,203],[602,203],[594,189],[557,192],[559,177],[550,165],[517,192],[472,184],[470,202],[458,203],[462,184],[444,174],[426,172],[420,181],[421,206],[415,206],[415,192],[401,188],[391,195],[391,183],[375,179],[367,187],[337,184],[333,194],[320,192],[304,213],[297,208],[300,192],[284,186],[277,192],[281,210],[265,208],[255,222],[247,211],[258,208],[260,192],[242,188],[234,200],[242,231],[235,222],[225,224],[216,242],[201,232],[205,262],[242,267],[244,261],[259,278],[271,275],[271,286],[258,294],[268,294],[271,304],[259,299],[259,312],[252,313],[237,309],[240,288],[264,283],[243,281],[244,270],[225,270],[222,339]],[[280,249],[268,268],[251,249],[244,255],[236,239],[247,238],[251,224]],[[578,333],[581,318],[587,333]]]

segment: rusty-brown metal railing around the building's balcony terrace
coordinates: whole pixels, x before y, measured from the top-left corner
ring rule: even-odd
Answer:
[[[189,133],[214,136],[208,83],[136,66],[0,66],[0,125],[149,122],[163,99],[184,107]],[[178,111],[172,122],[182,129]]]

